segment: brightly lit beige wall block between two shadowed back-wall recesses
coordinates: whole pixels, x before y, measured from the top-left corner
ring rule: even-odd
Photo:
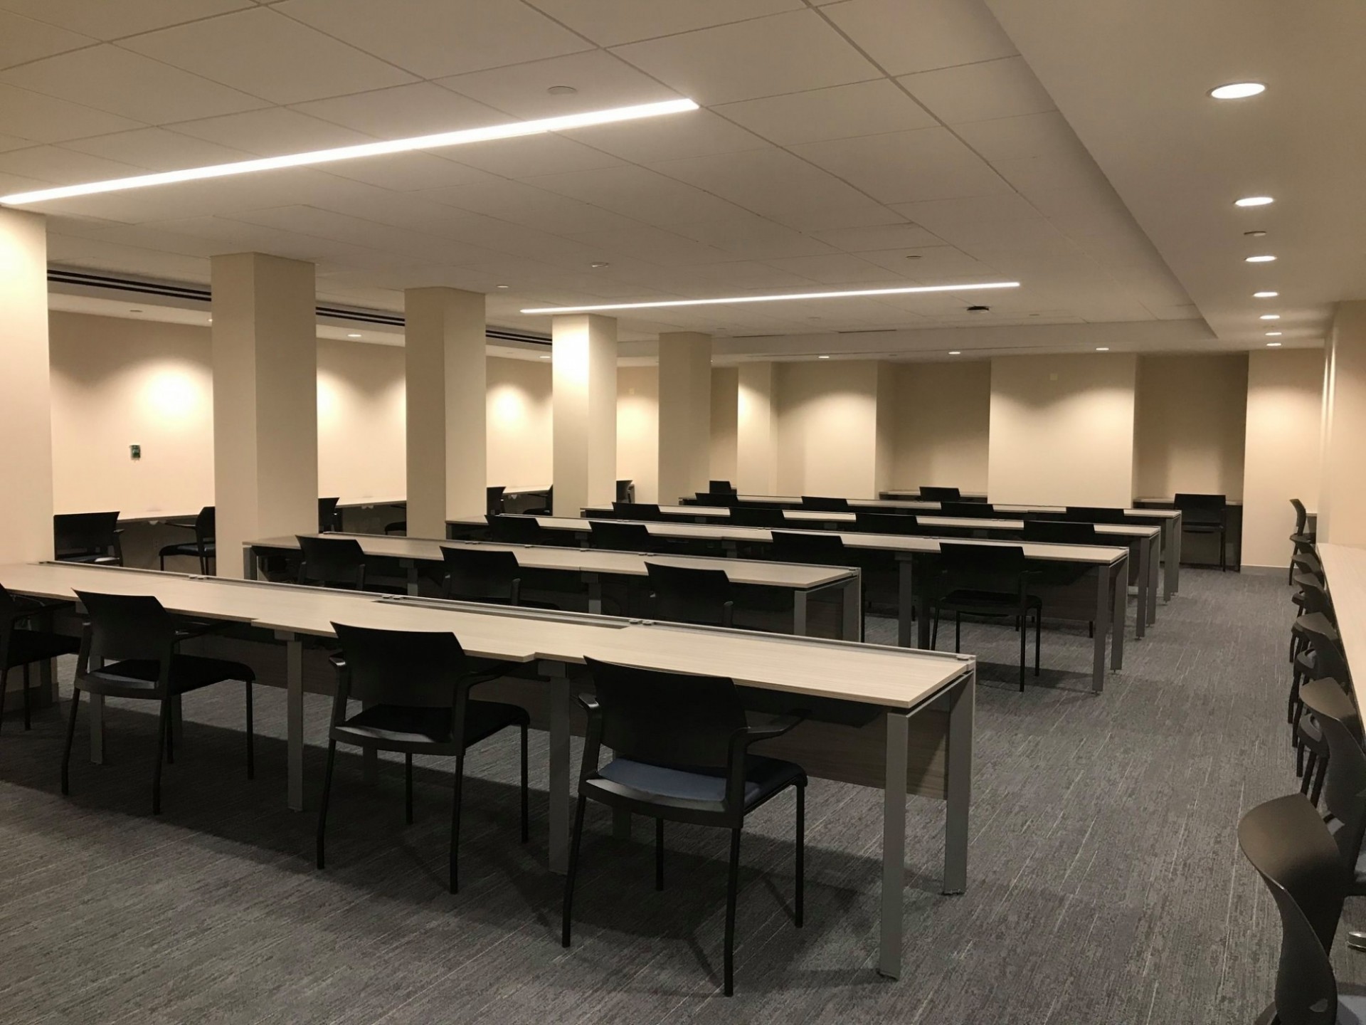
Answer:
[[[992,359],[992,500],[1127,506],[1137,373],[1123,353]]]

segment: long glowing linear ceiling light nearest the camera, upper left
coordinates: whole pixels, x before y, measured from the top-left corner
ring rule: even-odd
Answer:
[[[667,100],[657,104],[641,104],[638,107],[616,107],[609,111],[587,111],[586,113],[568,113],[561,118],[542,118],[534,122],[512,122],[510,124],[490,124],[484,128],[463,128],[460,131],[443,131],[436,135],[418,135],[410,139],[389,139],[387,142],[365,142],[359,146],[340,146],[337,149],[316,149],[310,153],[290,153],[283,157],[262,157],[261,160],[239,160],[232,164],[212,164],[209,167],[190,167],[180,171],[163,171],[154,175],[134,175],[133,178],[112,178],[108,182],[87,182],[86,184],[68,184],[59,189],[38,189],[31,193],[15,193],[14,195],[0,195],[0,202],[14,206],[30,202],[45,202],[48,200],[67,200],[72,195],[94,195],[96,193],[117,193],[124,189],[146,189],[153,184],[171,184],[173,182],[195,182],[205,178],[227,178],[228,175],[246,175],[253,171],[273,171],[281,167],[303,167],[307,164],[331,164],[337,160],[355,160],[357,157],[377,157],[385,153],[406,153],[413,149],[441,149],[444,146],[463,146],[469,142],[488,142],[490,139],[511,139],[520,135],[541,135],[548,131],[564,131],[566,128],[583,128],[590,124],[612,124],[615,122],[630,122],[641,118],[658,118],[665,113],[682,113],[695,111],[698,107],[691,100]]]

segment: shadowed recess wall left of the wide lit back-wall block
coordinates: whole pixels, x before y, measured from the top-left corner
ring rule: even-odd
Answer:
[[[986,491],[992,364],[895,368],[891,488],[932,484]]]

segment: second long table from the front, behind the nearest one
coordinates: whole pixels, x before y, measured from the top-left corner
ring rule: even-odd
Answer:
[[[307,534],[318,537],[320,534]],[[682,566],[697,570],[721,570],[732,584],[773,588],[792,594],[792,633],[807,633],[807,605],[810,599],[826,590],[839,590],[843,616],[841,638],[863,640],[863,608],[861,573],[847,566],[796,566],[791,563],[754,562],[736,559],[708,559],[698,556],[646,555],[642,552],[609,552],[594,548],[555,548],[546,545],[496,544],[490,541],[440,541],[423,537],[392,537],[388,534],[335,534],[359,543],[366,558],[398,563],[407,579],[410,594],[418,593],[418,574],[423,566],[441,566],[441,548],[478,548],[507,551],[516,555],[526,570],[568,574],[587,590],[589,612],[602,611],[602,578],[649,575],[646,563]],[[268,555],[298,555],[296,537],[268,537],[243,545],[243,571],[247,579],[257,579],[262,558]]]

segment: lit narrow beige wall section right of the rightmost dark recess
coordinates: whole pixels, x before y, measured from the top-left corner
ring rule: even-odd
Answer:
[[[1243,563],[1287,566],[1295,529],[1290,500],[1318,507],[1318,432],[1324,354],[1317,348],[1251,353],[1243,472]]]

